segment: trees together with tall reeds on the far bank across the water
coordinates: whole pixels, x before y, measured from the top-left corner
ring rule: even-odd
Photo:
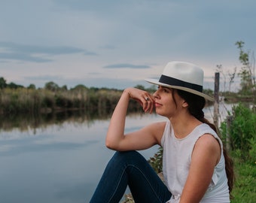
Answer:
[[[146,89],[148,92],[155,89]],[[43,88],[31,84],[24,87],[15,83],[6,83],[0,77],[0,114],[47,114],[59,111],[83,111],[99,117],[111,114],[122,93],[122,89],[87,87],[82,84],[68,89],[53,81],[45,83]],[[130,111],[141,111],[136,102],[131,102]]]

